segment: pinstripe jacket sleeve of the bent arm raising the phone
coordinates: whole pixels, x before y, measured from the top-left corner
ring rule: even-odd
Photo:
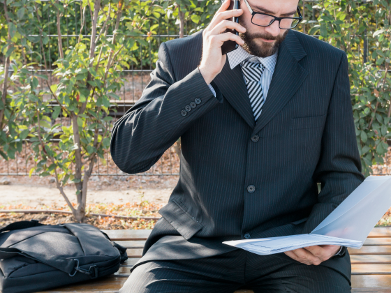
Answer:
[[[151,78],[140,100],[112,128],[112,160],[128,174],[149,170],[196,119],[223,103],[216,84],[211,82],[215,97],[198,68],[176,80],[165,43]]]

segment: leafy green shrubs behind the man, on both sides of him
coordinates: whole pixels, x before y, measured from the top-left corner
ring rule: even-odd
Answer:
[[[140,98],[159,45],[200,31],[219,6],[214,0],[0,0],[3,162],[29,149],[25,159],[33,163],[25,174],[54,176],[81,221],[89,178],[108,163],[112,123]],[[391,0],[299,6],[298,31],[348,54],[363,174],[391,174]],[[75,185],[75,207],[67,184]]]

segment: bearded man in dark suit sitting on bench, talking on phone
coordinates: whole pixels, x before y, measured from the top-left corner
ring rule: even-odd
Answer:
[[[309,233],[364,180],[346,54],[286,27],[297,2],[226,1],[205,30],[162,43],[110,151],[134,174],[182,137],[179,181],[120,293],[350,292],[346,248],[222,243]],[[228,57],[226,40],[240,45]]]

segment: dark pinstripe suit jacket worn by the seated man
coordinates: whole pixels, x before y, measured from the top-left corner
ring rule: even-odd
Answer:
[[[179,181],[138,264],[226,253],[237,248],[221,242],[246,233],[309,233],[364,180],[344,51],[290,30],[257,123],[240,66],[226,61],[214,97],[201,52],[202,31],[162,43],[152,81],[112,130],[112,158],[129,174],[182,137]],[[350,279],[348,253],[322,265]]]

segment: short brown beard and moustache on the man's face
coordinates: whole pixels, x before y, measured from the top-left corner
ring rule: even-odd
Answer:
[[[239,22],[240,23],[240,22]],[[243,25],[243,24],[242,24]],[[244,45],[242,45],[243,49],[246,50],[251,55],[254,55],[256,57],[269,57],[272,56],[281,45],[282,41],[285,39],[286,34],[288,33],[288,29],[279,36],[272,36],[268,33],[248,33],[247,31],[245,33],[239,33],[239,37],[244,40]],[[256,43],[256,38],[264,38],[265,40],[275,40],[274,43],[266,43],[263,42],[262,45],[258,45]]]

